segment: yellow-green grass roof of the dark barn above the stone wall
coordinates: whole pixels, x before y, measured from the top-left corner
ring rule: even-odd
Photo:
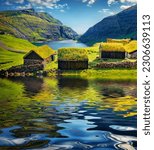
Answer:
[[[121,43],[101,43],[99,49],[108,52],[125,52],[125,48]]]

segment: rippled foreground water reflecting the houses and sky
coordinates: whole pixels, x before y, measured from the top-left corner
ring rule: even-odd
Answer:
[[[136,82],[0,79],[0,149],[134,150]]]

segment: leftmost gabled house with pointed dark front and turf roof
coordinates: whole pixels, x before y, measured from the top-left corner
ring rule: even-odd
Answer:
[[[24,65],[47,64],[54,61],[55,51],[47,45],[29,51],[24,56]]]

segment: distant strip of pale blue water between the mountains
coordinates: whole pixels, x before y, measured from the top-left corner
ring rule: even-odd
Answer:
[[[49,41],[49,42],[43,42],[43,43],[35,43],[35,45],[40,46],[47,44],[50,47],[52,47],[55,50],[58,50],[62,47],[87,47],[86,44],[80,43],[74,40],[63,40],[63,41]]]

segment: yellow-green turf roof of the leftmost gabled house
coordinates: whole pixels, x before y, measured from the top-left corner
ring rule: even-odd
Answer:
[[[37,53],[42,59],[48,58],[49,56],[55,54],[55,51],[52,48],[50,48],[48,45],[43,45],[31,50],[25,55],[25,57],[29,55],[32,51]]]

